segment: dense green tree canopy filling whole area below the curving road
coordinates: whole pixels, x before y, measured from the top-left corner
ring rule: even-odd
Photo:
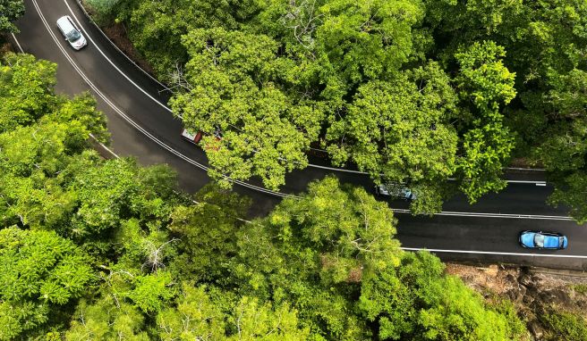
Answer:
[[[99,157],[104,117],[55,95],[55,64],[9,54],[0,70],[18,113],[0,130],[1,340],[523,336],[437,257],[402,251],[362,188],[323,179],[246,222],[246,198],[208,186],[194,204],[166,167]],[[30,88],[6,91],[16,77]]]

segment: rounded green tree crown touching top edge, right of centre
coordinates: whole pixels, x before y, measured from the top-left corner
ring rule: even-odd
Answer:
[[[412,28],[423,19],[420,1],[329,0],[319,6],[316,50],[329,82],[353,87],[386,79],[413,54]]]

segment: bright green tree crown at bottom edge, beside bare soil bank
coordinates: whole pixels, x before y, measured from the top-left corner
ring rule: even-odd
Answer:
[[[402,263],[365,274],[359,308],[377,323],[381,339],[517,339],[504,315],[483,303],[427,253],[405,253]]]

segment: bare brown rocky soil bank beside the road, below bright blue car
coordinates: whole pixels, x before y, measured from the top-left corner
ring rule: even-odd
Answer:
[[[571,312],[587,319],[586,272],[446,264],[447,273],[463,279],[481,295],[506,295],[534,340],[543,340],[548,332],[540,320],[543,314]]]

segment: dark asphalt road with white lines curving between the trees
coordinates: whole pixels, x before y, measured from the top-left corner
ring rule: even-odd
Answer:
[[[87,21],[75,1],[26,0],[25,4],[25,16],[18,22],[21,33],[16,35],[21,48],[38,58],[57,62],[58,92],[74,95],[89,91],[98,98],[98,109],[108,118],[116,154],[132,155],[144,165],[169,164],[178,172],[179,185],[187,192],[208,183],[206,171],[198,166],[208,164],[206,156],[200,148],[183,141],[181,121],[165,108],[168,91],[119,54]],[[89,40],[81,51],[74,51],[55,26],[57,18],[64,14],[81,22]],[[282,192],[302,192],[311,180],[330,173],[344,182],[372,187],[364,175],[307,168],[289,174]],[[513,180],[543,180],[542,176],[540,172],[507,174]],[[253,198],[253,215],[268,212],[281,200],[259,189],[259,181],[252,180],[250,184],[236,185],[235,190]],[[511,183],[498,195],[486,195],[474,205],[457,195],[445,204],[444,213],[432,218],[397,213],[397,237],[404,247],[436,250],[446,260],[587,270],[587,224],[578,226],[565,218],[565,208],[545,204],[551,191],[549,186]],[[405,208],[404,203],[390,205]],[[569,246],[557,252],[523,249],[517,244],[517,234],[523,229],[565,233]]]

